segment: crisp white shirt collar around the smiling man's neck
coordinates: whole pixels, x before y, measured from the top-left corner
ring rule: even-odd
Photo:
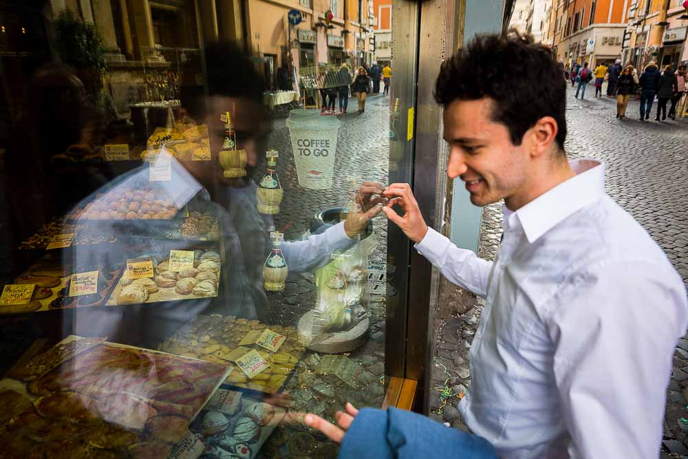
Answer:
[[[515,212],[504,206],[506,228],[515,226],[517,217],[528,242],[533,244],[566,217],[604,194],[603,162],[584,158],[572,160],[569,164],[576,173],[574,177],[561,182]]]

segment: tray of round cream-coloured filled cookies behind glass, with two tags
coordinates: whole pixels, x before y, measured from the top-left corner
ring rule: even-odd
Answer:
[[[170,270],[169,259],[154,266],[154,277],[129,279],[126,275],[117,282],[107,306],[156,303],[182,299],[217,297],[222,263],[215,250],[193,250],[193,268]]]

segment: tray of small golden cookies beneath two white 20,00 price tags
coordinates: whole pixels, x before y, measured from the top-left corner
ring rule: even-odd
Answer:
[[[219,314],[200,315],[163,341],[160,344],[160,350],[208,362],[222,363],[227,361],[230,352],[239,348],[239,342],[246,337],[248,332],[266,328],[268,328],[266,325],[257,320],[248,321]],[[226,383],[268,394],[279,392],[288,376],[294,371],[294,366],[301,359],[305,348],[297,341],[298,332],[295,328],[281,325],[270,325],[269,328],[286,337],[278,352],[270,352],[259,345],[244,345],[243,347],[247,350],[257,350],[270,366],[252,379],[237,369],[228,376]]]

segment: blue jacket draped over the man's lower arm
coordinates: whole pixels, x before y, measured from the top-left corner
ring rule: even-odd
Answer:
[[[363,408],[339,450],[339,458],[497,459],[484,438],[446,427],[402,409]]]

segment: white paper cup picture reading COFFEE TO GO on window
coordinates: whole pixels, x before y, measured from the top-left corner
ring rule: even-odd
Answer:
[[[319,109],[296,109],[287,120],[299,185],[312,190],[332,188],[339,120],[320,116]]]

